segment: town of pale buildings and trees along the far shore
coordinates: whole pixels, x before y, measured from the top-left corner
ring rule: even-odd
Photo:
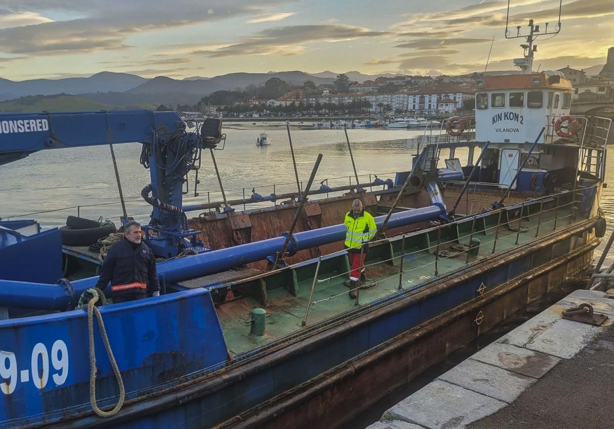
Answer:
[[[610,48],[608,63],[599,75],[587,77],[584,70],[569,66],[557,71],[573,83],[575,102],[614,102],[614,48]],[[473,112],[476,81],[483,76],[483,73],[435,78],[397,75],[358,83],[340,74],[334,83],[317,86],[311,81],[290,86],[279,78],[270,78],[263,86],[216,91],[196,105],[176,108],[160,105],[158,110],[177,110],[188,118],[202,115],[238,119],[463,115]]]

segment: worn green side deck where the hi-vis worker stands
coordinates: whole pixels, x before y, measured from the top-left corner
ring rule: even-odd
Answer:
[[[508,228],[506,224],[507,212],[503,211],[495,253],[506,251],[516,246],[517,236],[518,245],[535,240],[538,223],[540,224],[539,237],[553,232],[555,218],[557,219],[557,229],[567,227],[571,218],[569,203],[564,205],[561,201],[561,207],[558,210],[552,207],[552,205],[544,204],[541,219],[538,213],[539,203],[530,207],[530,210],[528,207],[525,208],[524,218],[521,221],[521,232],[519,234],[516,230]],[[518,213],[519,209],[510,210],[510,216],[514,214],[513,212]],[[495,241],[495,235],[497,235],[498,213],[491,214],[484,218],[484,221],[478,219],[475,222],[473,237],[481,241],[478,258],[492,254],[492,246]],[[518,219],[510,219],[509,225],[512,228],[517,227]],[[467,222],[458,222],[441,227],[440,257],[435,256],[438,243],[437,227],[406,235],[404,252],[402,252],[401,247],[402,240],[373,246],[368,253],[367,262],[365,263],[367,265],[366,274],[368,278],[375,280],[377,285],[369,289],[360,289],[359,305],[397,292],[400,259],[403,253],[405,253],[403,260],[403,289],[415,287],[422,281],[434,278],[436,260],[439,275],[467,266],[467,246],[462,246],[465,250],[461,252],[458,249],[456,251],[449,251],[447,256],[443,254],[443,251],[452,243],[456,243],[457,246],[459,243],[466,245],[471,226],[472,220],[468,220]],[[391,246],[395,257],[394,265],[390,260]],[[470,257],[469,264],[475,260],[475,257]],[[344,280],[349,278],[349,275],[346,274],[348,270],[347,264],[346,255],[335,256],[332,259],[322,261],[318,274],[319,282],[316,283],[313,297],[311,298],[312,304],[306,321],[307,326],[356,308],[355,300],[348,296],[348,287],[344,286]],[[315,262],[294,268],[296,283],[293,281],[290,271],[268,275],[263,278],[266,283],[266,294],[268,295],[266,306],[264,307],[267,312],[266,334],[264,338],[250,335],[251,310],[263,307],[260,294],[246,296],[239,300],[219,305],[217,307],[217,314],[231,354],[238,355],[250,351],[281,336],[304,329],[301,322],[305,317],[305,311],[308,306],[309,292],[315,270]],[[256,289],[256,286],[254,286],[254,289]],[[294,290],[298,290],[297,296],[293,295],[292,292]]]

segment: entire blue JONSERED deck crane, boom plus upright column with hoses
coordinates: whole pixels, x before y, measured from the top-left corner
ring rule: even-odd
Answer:
[[[0,165],[41,150],[130,142],[143,143],[141,163],[151,177],[141,192],[153,206],[146,227],[150,247],[164,257],[176,256],[185,248],[205,251],[197,238],[200,231],[187,225],[182,186],[188,171],[198,168],[200,150],[215,148],[217,142],[185,132],[176,112],[0,113]]]

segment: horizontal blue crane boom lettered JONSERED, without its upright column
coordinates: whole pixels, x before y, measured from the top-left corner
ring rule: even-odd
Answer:
[[[0,165],[31,153],[109,143],[163,143],[185,128],[176,112],[109,110],[0,114]]]

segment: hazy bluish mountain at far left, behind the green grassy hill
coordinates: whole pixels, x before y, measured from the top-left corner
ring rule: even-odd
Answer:
[[[23,96],[80,94],[96,91],[126,91],[147,82],[147,79],[127,73],[100,72],[90,77],[64,79],[32,79],[14,82],[0,79],[0,100]]]

